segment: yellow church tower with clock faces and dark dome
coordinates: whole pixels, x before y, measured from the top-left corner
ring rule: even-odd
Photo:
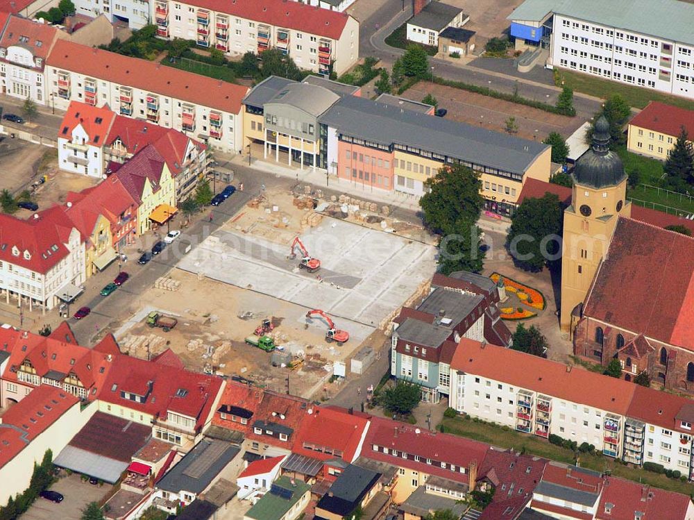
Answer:
[[[564,211],[561,252],[561,328],[570,330],[573,310],[583,303],[607,253],[620,215],[630,217],[627,175],[619,156],[609,149],[609,123],[595,123],[591,149],[576,162],[571,206]]]

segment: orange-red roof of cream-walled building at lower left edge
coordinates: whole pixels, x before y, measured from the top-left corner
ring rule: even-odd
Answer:
[[[63,389],[42,385],[7,410],[0,417],[0,468],[78,402]]]

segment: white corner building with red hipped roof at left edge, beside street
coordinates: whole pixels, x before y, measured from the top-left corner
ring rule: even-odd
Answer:
[[[45,312],[85,281],[83,237],[56,206],[21,220],[0,215],[0,290],[6,303]]]

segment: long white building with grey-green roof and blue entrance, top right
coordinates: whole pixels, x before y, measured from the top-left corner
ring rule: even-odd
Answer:
[[[548,67],[694,98],[691,3],[526,0],[508,19],[516,49],[548,49]]]

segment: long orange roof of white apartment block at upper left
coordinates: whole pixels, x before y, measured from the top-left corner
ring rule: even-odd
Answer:
[[[47,62],[103,81],[137,87],[189,103],[238,114],[248,87],[166,67],[148,60],[58,40]]]

